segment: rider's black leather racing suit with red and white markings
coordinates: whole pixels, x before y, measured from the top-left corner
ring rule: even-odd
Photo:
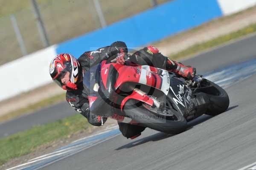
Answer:
[[[102,47],[96,51],[86,51],[82,54],[78,61],[81,65],[82,72],[86,72],[93,65],[98,64],[102,60],[109,59],[112,56],[120,52],[125,52],[127,54],[128,49],[124,42],[116,41],[110,46]],[[168,61],[169,60],[169,61]],[[131,55],[130,61],[138,65],[151,65],[157,68],[163,68],[168,70],[175,70],[177,68],[176,62],[163,56],[161,53],[152,53],[148,51],[145,47],[139,51],[136,51]],[[88,96],[89,92],[83,88],[82,82],[78,85],[78,90],[67,91],[66,99],[67,102],[79,113],[88,119],[90,124],[95,126],[100,126],[101,122],[98,121],[97,116],[92,116],[89,110]],[[106,119],[104,119],[104,122]],[[118,122],[119,129],[123,136],[130,138],[141,133],[145,127],[140,127],[137,125],[129,125],[125,123]]]

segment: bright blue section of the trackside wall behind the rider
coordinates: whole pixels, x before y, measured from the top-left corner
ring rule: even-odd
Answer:
[[[217,0],[174,0],[58,45],[57,53],[79,57],[114,41],[129,48],[161,40],[222,16]]]

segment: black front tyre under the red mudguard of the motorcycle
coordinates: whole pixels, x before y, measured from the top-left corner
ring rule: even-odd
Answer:
[[[182,114],[178,112],[175,113],[177,120],[163,119],[166,118],[165,116],[158,117],[156,119],[156,117],[159,115],[144,108],[144,106],[141,105],[141,102],[134,99],[130,99],[125,103],[124,112],[127,116],[140,123],[140,125],[164,133],[181,133],[185,131],[187,127],[187,121]]]

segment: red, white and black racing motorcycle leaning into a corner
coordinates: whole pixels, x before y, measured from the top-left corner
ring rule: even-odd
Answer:
[[[215,83],[196,75],[187,80],[148,65],[104,60],[84,75],[90,112],[119,122],[180,133],[187,122],[203,114],[227,110],[229,96]]]

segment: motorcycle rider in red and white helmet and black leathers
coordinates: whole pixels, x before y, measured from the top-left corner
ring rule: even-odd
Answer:
[[[88,122],[94,126],[101,126],[101,117],[92,115],[89,109],[87,96],[89,92],[83,87],[83,76],[90,67],[98,64],[102,60],[116,57],[116,63],[124,64],[125,57],[128,55],[128,49],[125,42],[116,41],[110,46],[102,47],[96,51],[86,51],[78,59],[71,54],[59,54],[49,66],[49,73],[52,79],[61,88],[67,91],[67,102],[79,113],[88,119]],[[192,79],[196,70],[190,66],[185,66],[163,56],[154,46],[148,46],[136,51],[130,57],[130,61],[138,65],[150,65],[157,68],[163,68],[174,71],[186,79]],[[107,119],[103,119],[105,123]],[[131,139],[140,136],[145,127],[130,125],[118,122],[119,130],[122,135]]]

